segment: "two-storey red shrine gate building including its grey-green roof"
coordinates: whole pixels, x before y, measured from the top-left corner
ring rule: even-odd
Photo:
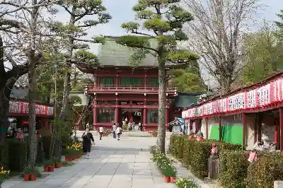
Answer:
[[[110,129],[113,123],[122,125],[126,117],[128,121],[132,118],[135,124],[141,122],[146,131],[157,129],[158,63],[148,55],[139,64],[130,64],[131,49],[118,45],[115,39],[108,37],[99,45],[99,65],[81,68],[93,74],[93,85],[85,88],[85,94],[93,101],[93,129],[100,126]],[[151,43],[154,45],[154,41]],[[167,129],[175,116],[175,107],[169,101],[176,95],[176,88],[166,87]]]

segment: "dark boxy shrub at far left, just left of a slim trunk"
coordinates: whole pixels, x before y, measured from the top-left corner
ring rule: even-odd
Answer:
[[[22,171],[25,169],[28,156],[26,141],[8,141],[8,167],[10,170]]]

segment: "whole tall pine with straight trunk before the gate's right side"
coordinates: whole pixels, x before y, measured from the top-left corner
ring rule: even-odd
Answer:
[[[158,139],[157,146],[165,153],[165,108],[166,108],[166,65],[188,64],[195,61],[196,54],[185,49],[177,49],[178,42],[187,40],[183,32],[183,25],[192,20],[192,14],[185,11],[180,5],[180,0],[139,0],[133,7],[136,18],[143,20],[142,25],[136,22],[122,23],[128,33],[119,37],[116,42],[120,45],[132,47],[135,53],[129,59],[140,61],[146,54],[153,55],[158,61]],[[142,33],[141,29],[149,31]],[[152,47],[154,40],[157,47]]]

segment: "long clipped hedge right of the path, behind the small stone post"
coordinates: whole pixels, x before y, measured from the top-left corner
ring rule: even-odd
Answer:
[[[187,168],[197,177],[204,178],[208,175],[208,158],[211,154],[212,143],[217,144],[218,152],[226,150],[242,150],[239,144],[226,143],[214,140],[196,141],[187,139],[187,136],[171,135],[169,145],[170,152],[179,160],[182,160]]]

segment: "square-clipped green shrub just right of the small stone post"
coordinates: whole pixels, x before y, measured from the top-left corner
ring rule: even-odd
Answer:
[[[248,155],[246,151],[221,151],[219,183],[222,187],[246,187],[244,182],[249,165]]]

